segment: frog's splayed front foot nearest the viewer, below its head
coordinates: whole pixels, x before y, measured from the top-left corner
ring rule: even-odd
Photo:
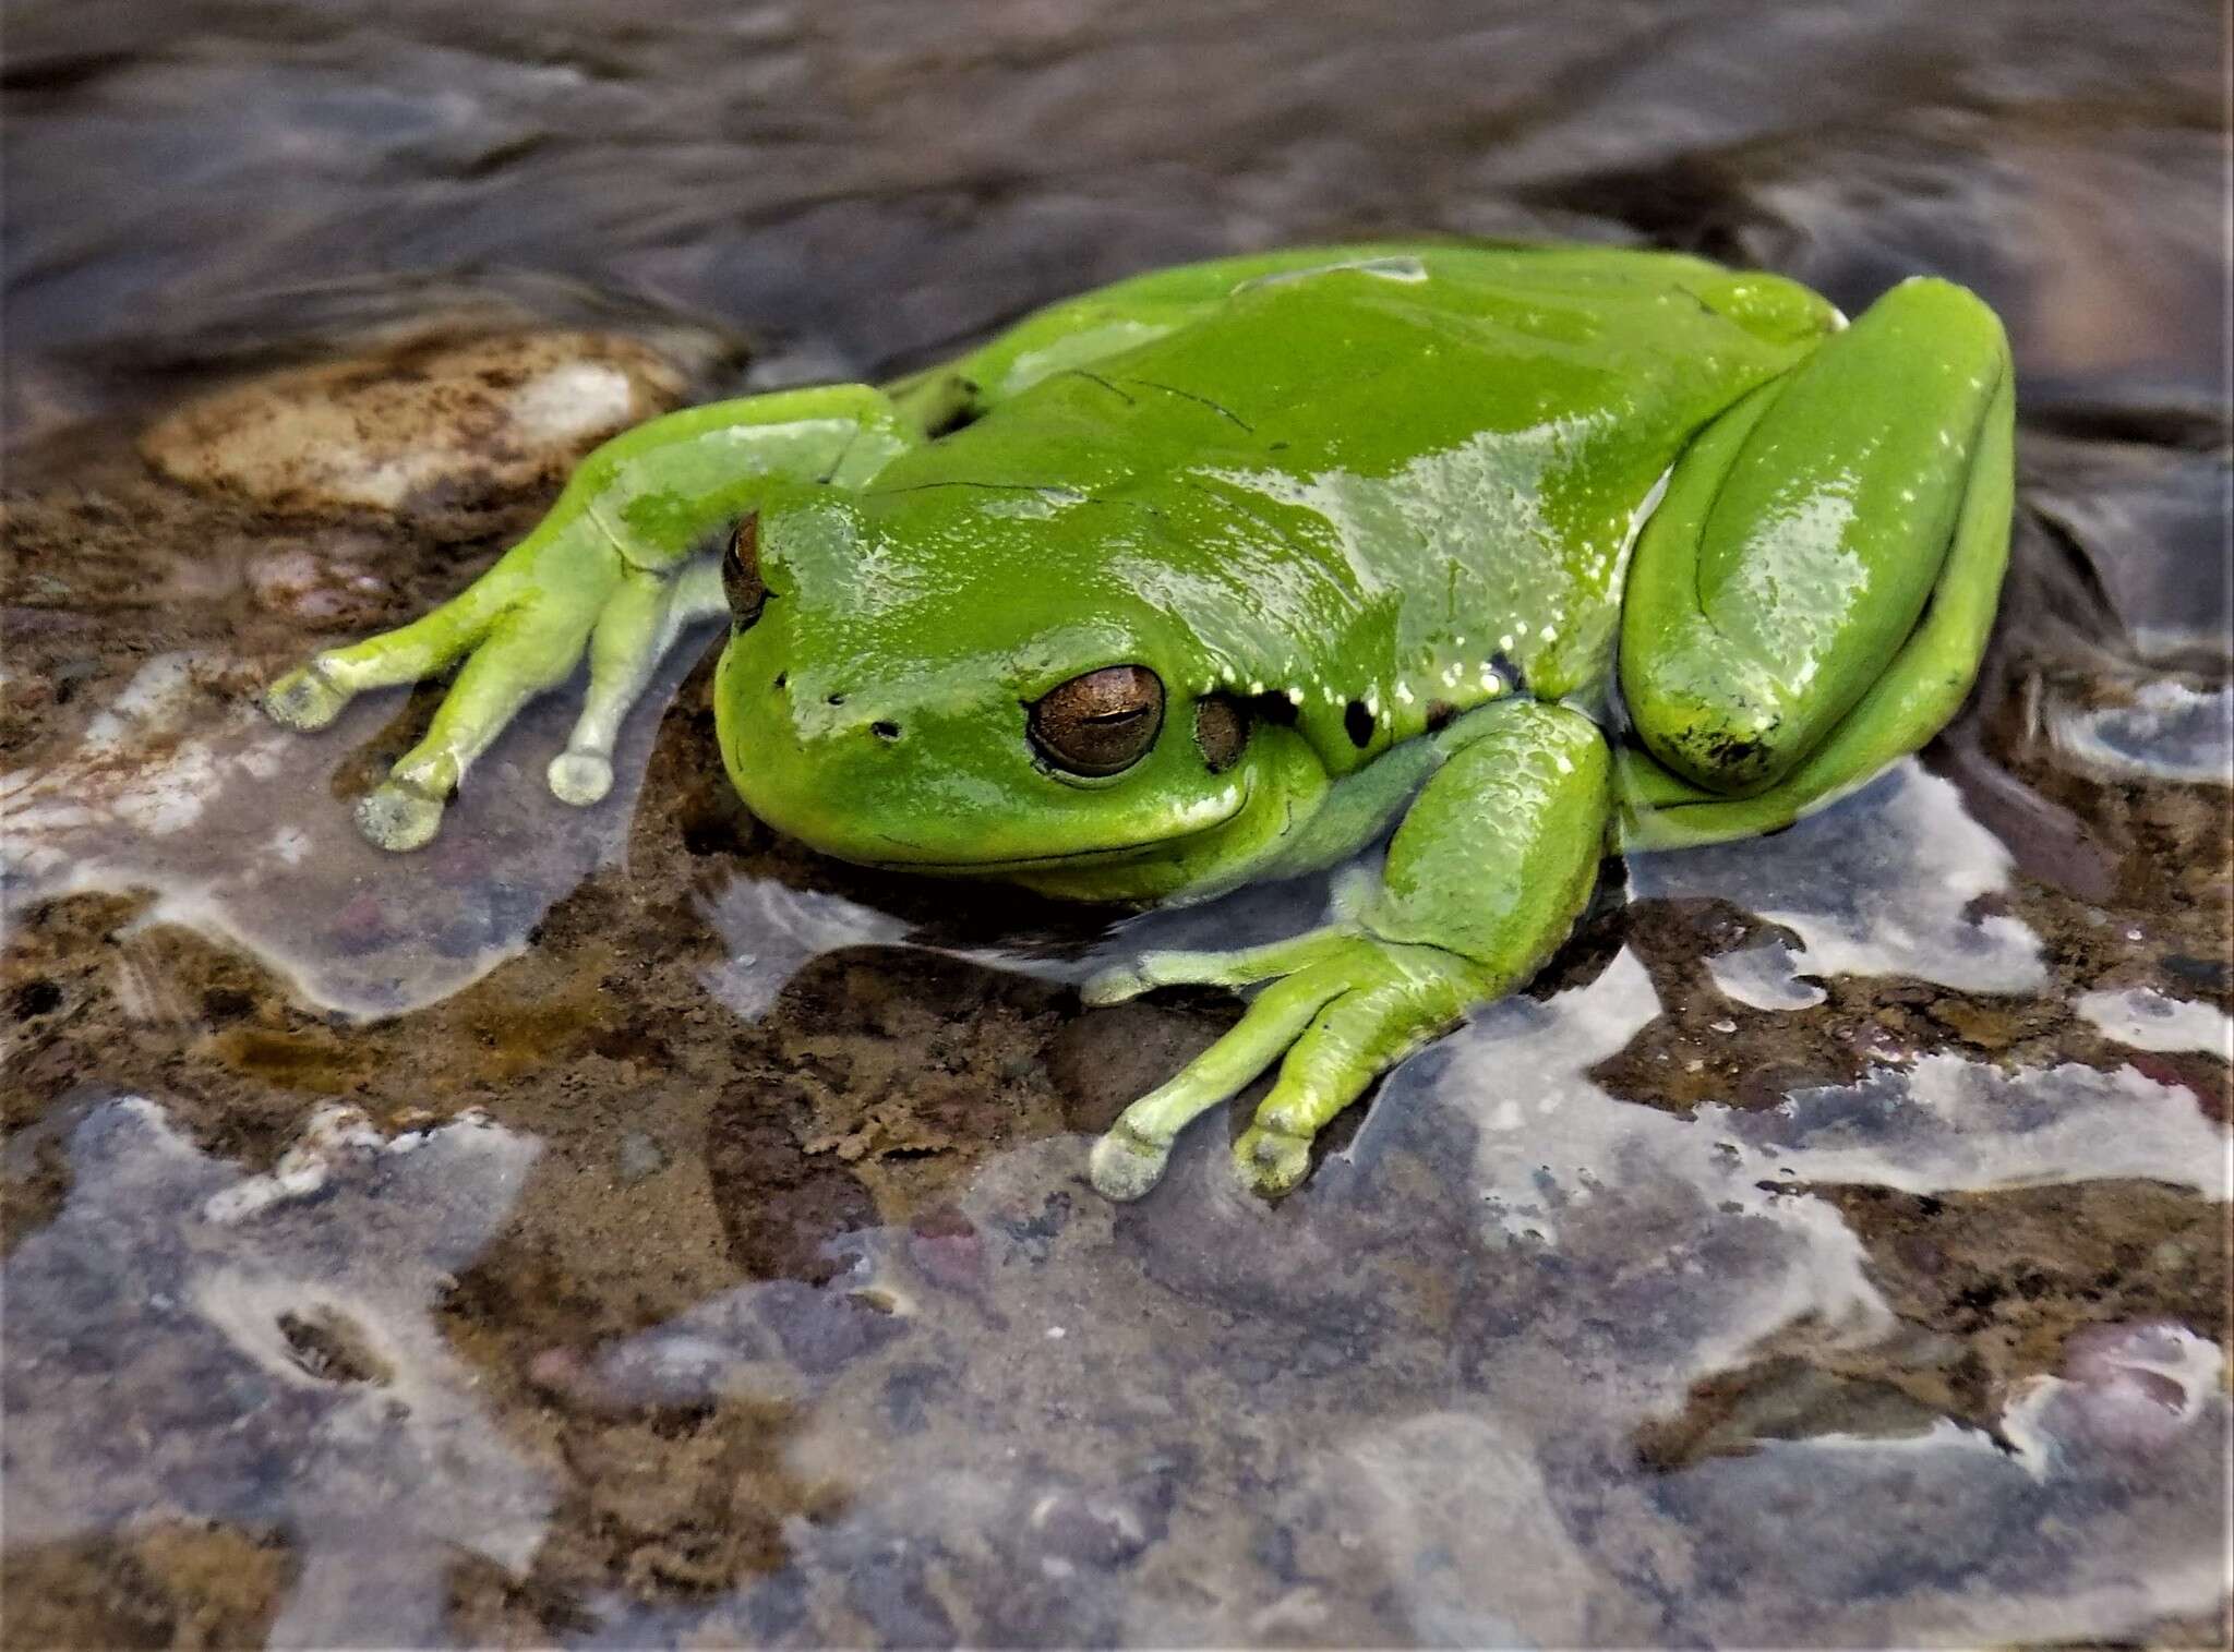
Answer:
[[[1137,969],[1088,982],[1088,1000],[1113,1002],[1180,982],[1233,987],[1267,976],[1278,980],[1258,993],[1238,1027],[1126,1107],[1095,1143],[1095,1188],[1110,1199],[1139,1199],[1164,1174],[1171,1143],[1197,1114],[1280,1060],[1280,1078],[1233,1145],[1233,1159],[1242,1181],[1258,1192],[1289,1192],[1309,1170],[1318,1132],[1488,987],[1488,971],[1439,947],[1325,929],[1235,953],[1148,953]]]

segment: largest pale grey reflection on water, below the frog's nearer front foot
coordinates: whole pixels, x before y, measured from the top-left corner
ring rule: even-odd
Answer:
[[[746,1286],[605,1348],[574,1377],[601,1404],[809,1400],[795,1464],[853,1487],[782,1574],[710,1610],[610,1601],[610,1636],[1917,1643],[2209,1605],[2230,1418],[2192,1333],[2098,1337],[1999,1442],[1919,1413],[1671,1476],[1631,1447],[1796,1322],[1894,1333],[1810,1185],[2225,1197],[2194,1096],[1926,1058],[1684,1121],[1584,1076],[1653,1014],[1626,953],[1501,1005],[1278,1210],[1222,1141],[1137,1210],[1046,1141],[936,1241],[851,1235],[822,1290]]]

